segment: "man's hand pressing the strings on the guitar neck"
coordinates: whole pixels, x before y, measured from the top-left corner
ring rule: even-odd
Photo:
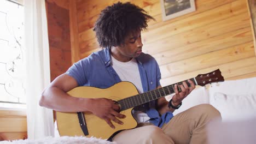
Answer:
[[[195,89],[195,84],[193,81],[188,80],[190,83],[190,88],[188,87],[186,82],[182,82],[182,85],[179,85],[179,88],[181,88],[181,92],[178,92],[178,86],[177,84],[174,85],[174,92],[175,95],[172,97],[172,105],[173,106],[178,106],[181,101],[187,97],[193,89]]]

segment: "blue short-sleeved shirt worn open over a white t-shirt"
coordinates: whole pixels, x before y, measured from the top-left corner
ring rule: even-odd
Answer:
[[[155,59],[146,53],[141,53],[136,59],[143,92],[151,91],[160,86],[161,73]],[[105,48],[73,64],[66,74],[74,77],[79,86],[108,88],[121,82],[118,74],[111,66],[111,61],[110,49]],[[155,106],[156,100],[153,100],[142,106],[135,107],[135,109],[146,112],[150,117],[150,122],[161,127],[163,123],[170,121],[171,118],[162,119],[158,111],[155,110]],[[169,114],[172,115],[170,112]],[[165,115],[168,115],[168,113]]]

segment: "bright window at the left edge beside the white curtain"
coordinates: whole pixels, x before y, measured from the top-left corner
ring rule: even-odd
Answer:
[[[25,108],[24,8],[0,1],[0,107]]]

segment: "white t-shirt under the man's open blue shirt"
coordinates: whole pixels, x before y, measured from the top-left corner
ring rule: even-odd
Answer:
[[[117,72],[121,81],[129,81],[136,86],[139,93],[143,93],[143,87],[141,82],[141,75],[139,75],[138,63],[135,58],[132,58],[129,62],[120,62],[112,58],[112,67]],[[133,111],[133,116],[138,123],[149,122],[147,113],[142,111]]]

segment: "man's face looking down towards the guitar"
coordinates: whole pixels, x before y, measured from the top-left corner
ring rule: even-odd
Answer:
[[[125,38],[125,43],[117,46],[117,51],[121,57],[138,57],[142,52],[141,31],[130,33]]]

